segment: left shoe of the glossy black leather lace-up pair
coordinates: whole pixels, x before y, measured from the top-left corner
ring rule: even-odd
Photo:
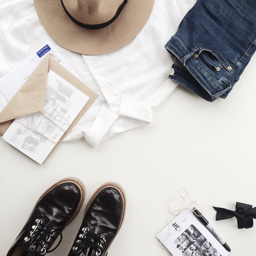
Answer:
[[[7,256],[41,256],[53,251],[62,239],[62,230],[78,214],[85,197],[85,187],[76,178],[65,178],[41,195],[27,223]],[[58,236],[57,246],[51,247]]]

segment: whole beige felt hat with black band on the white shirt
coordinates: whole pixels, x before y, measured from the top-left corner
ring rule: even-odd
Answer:
[[[113,52],[146,24],[154,0],[34,0],[52,39],[83,54]]]

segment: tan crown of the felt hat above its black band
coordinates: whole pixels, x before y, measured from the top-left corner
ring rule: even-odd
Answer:
[[[70,15],[83,24],[101,24],[113,18],[123,0],[63,0]]]

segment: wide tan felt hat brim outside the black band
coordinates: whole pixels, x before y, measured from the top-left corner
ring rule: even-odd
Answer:
[[[134,39],[146,24],[154,0],[128,0],[117,19],[105,28],[90,30],[73,22],[60,0],[34,0],[45,30],[60,46],[82,54],[113,52]]]

